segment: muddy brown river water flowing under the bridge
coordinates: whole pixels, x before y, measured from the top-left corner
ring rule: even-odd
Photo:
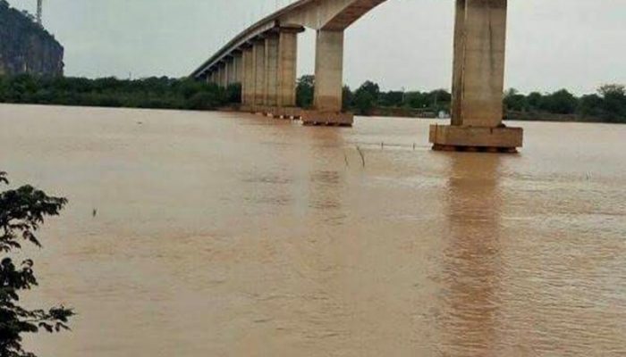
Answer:
[[[79,315],[28,347],[626,354],[626,126],[516,123],[520,154],[463,154],[429,150],[434,121],[0,105],[0,170],[70,200],[26,302]]]

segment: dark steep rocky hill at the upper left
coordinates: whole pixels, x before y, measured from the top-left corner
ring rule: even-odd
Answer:
[[[0,75],[63,76],[63,46],[30,14],[0,0]]]

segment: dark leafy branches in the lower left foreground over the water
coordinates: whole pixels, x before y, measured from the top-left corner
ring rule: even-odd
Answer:
[[[0,172],[0,184],[8,184]],[[31,186],[0,193],[0,356],[34,357],[23,350],[22,335],[40,329],[59,332],[68,329],[74,312],[63,306],[27,310],[19,305],[20,292],[37,286],[30,259],[13,262],[11,253],[21,249],[23,242],[41,246],[35,232],[47,216],[58,215],[67,203],[64,198],[46,195]]]

